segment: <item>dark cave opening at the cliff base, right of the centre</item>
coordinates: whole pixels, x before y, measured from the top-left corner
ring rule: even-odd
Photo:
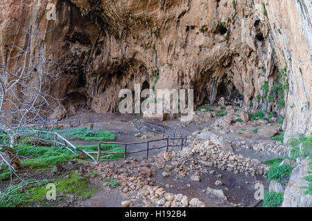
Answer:
[[[243,104],[243,95],[237,90],[232,81],[220,81],[216,91],[216,99],[225,98],[227,105],[241,105]]]

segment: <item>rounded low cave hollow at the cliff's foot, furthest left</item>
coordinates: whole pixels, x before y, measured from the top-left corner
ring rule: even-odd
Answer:
[[[87,97],[78,92],[69,93],[64,100],[64,106],[69,117],[76,115],[78,111],[87,107]]]

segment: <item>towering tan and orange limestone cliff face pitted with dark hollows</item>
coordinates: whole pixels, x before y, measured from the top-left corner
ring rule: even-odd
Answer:
[[[25,44],[23,30],[52,30],[46,55],[67,69],[50,91],[72,114],[116,111],[121,88],[152,88],[159,75],[155,88],[193,88],[196,104],[225,97],[286,115],[286,140],[311,133],[310,1],[51,3],[55,21],[46,0],[1,1],[0,63],[16,54],[8,46]]]

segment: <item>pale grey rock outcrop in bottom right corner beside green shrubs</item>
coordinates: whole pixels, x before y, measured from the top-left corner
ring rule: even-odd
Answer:
[[[309,186],[309,182],[304,177],[309,174],[311,162],[304,160],[293,169],[291,177],[284,192],[284,202],[282,207],[311,207],[312,195],[306,195],[304,186]]]

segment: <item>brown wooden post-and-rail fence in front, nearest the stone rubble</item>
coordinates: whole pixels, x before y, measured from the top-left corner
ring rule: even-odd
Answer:
[[[165,146],[159,146],[159,147],[150,148],[150,143],[162,142],[162,141],[166,141],[166,145]],[[173,141],[173,144],[170,144],[170,141]],[[175,142],[176,142],[176,144],[175,144]],[[123,153],[120,153],[120,152],[119,153],[102,153],[101,152],[101,144],[123,145],[125,147],[125,151]],[[145,150],[141,150],[141,151],[127,152],[128,146],[130,146],[130,145],[137,145],[137,144],[146,144],[146,149]],[[163,138],[163,139],[159,139],[159,140],[148,140],[148,141],[145,141],[145,142],[133,142],[133,143],[98,142],[98,152],[93,152],[93,153],[97,153],[98,154],[97,157],[96,157],[96,161],[97,162],[100,161],[101,154],[103,154],[103,155],[123,154],[123,159],[125,160],[127,155],[129,155],[129,154],[141,153],[141,152],[145,152],[145,151],[146,151],[146,158],[148,159],[149,151],[166,148],[166,152],[168,152],[169,147],[180,147],[180,150],[182,151],[183,146],[187,146],[187,137],[180,137],[180,138],[167,137],[167,138]]]

